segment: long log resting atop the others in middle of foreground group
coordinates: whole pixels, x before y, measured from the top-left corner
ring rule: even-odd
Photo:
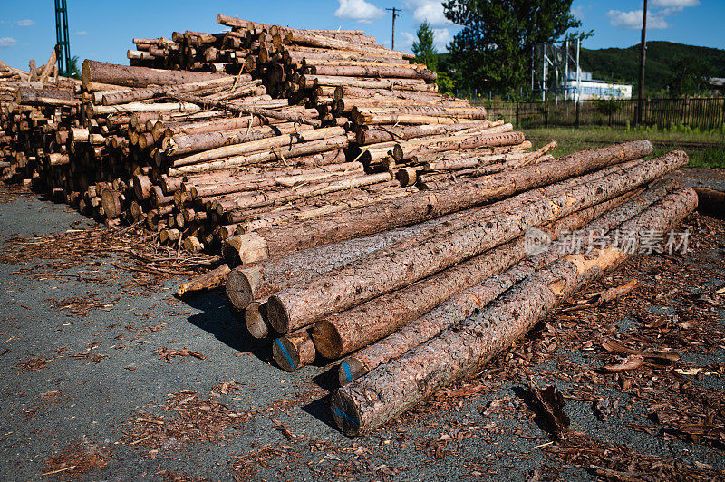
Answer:
[[[319,276],[308,284],[295,285],[270,296],[267,302],[269,323],[279,333],[289,333],[320,320],[330,313],[349,309],[412,284],[471,256],[520,236],[528,227],[536,227],[590,207],[605,199],[650,182],[687,164],[687,154],[674,151],[647,161],[633,161],[607,169],[607,177],[588,182],[552,198],[519,208],[517,212],[469,219],[459,229],[442,230],[415,246],[390,246],[333,273]],[[521,195],[519,195],[521,196]],[[509,198],[502,203],[516,202]],[[410,240],[407,240],[410,245]]]

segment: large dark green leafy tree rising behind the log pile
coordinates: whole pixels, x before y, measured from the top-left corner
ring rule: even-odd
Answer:
[[[518,91],[530,82],[531,50],[581,26],[573,0],[446,0],[446,17],[463,26],[449,45],[463,87]],[[593,34],[577,34],[585,37]]]

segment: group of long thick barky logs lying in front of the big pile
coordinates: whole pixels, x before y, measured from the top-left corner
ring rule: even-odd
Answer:
[[[632,247],[689,214],[694,192],[658,182],[686,154],[643,160],[651,152],[633,141],[257,229],[225,246],[227,297],[252,336],[273,340],[281,368],[342,359],[333,417],[365,433],[478,368],[630,254],[609,240],[589,246],[591,259],[531,255],[530,229],[548,240],[633,232]]]

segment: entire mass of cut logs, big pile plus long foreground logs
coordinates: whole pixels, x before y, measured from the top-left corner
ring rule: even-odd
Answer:
[[[107,225],[220,251],[179,294],[226,284],[287,371],[339,360],[346,434],[475,371],[621,263],[607,236],[694,207],[660,180],[683,152],[644,159],[652,144],[633,141],[554,159],[555,141],[531,151],[361,31],[218,23],[232,30],[134,39],[131,66],[85,61],[75,89],[14,86],[0,148]],[[582,228],[604,239],[586,256],[531,250]]]

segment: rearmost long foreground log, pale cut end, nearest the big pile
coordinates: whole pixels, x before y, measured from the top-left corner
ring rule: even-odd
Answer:
[[[651,152],[652,143],[647,140],[635,140],[605,148],[585,150],[556,161],[518,169],[513,173],[461,181],[439,192],[411,194],[405,198],[355,207],[306,222],[260,229],[256,233],[256,241],[261,242],[262,249],[256,249],[255,255],[267,253],[274,257],[307,247],[420,223],[485,202],[507,198],[528,189],[553,184],[562,179],[580,176],[590,170],[643,158]],[[240,257],[246,259],[247,263],[260,260],[251,252],[246,253],[244,242],[240,245],[243,250]]]

